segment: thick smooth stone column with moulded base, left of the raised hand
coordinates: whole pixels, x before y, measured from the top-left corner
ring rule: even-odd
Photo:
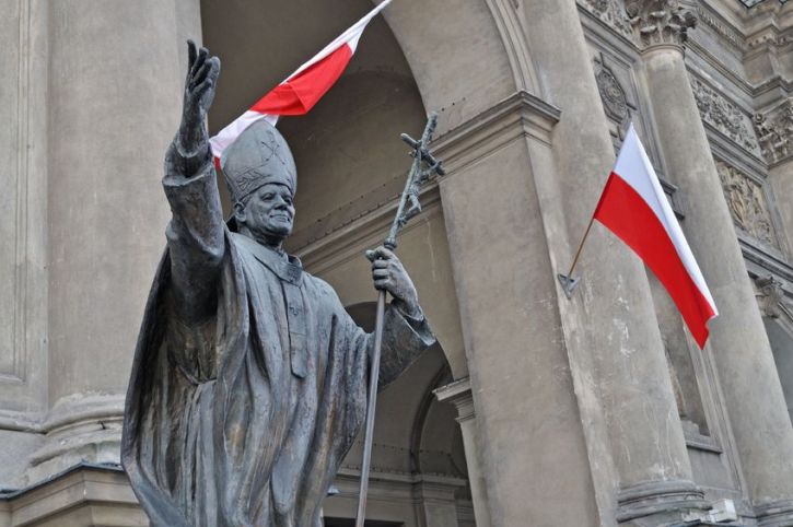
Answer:
[[[167,204],[197,0],[49,3],[49,401],[36,481],[118,461],[124,396]],[[189,23],[187,22],[189,21]]]

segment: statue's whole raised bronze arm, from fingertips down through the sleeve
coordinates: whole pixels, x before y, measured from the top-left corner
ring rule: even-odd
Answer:
[[[220,60],[188,42],[189,62],[182,125],[165,155],[163,187],[173,213],[166,230],[175,306],[188,323],[200,323],[217,305],[224,255],[223,215],[207,131]]]

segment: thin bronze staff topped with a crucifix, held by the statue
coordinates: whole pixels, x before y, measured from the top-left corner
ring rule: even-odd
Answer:
[[[388,250],[397,247],[397,235],[399,231],[413,218],[421,212],[421,203],[419,202],[419,191],[421,186],[430,179],[430,176],[445,174],[441,166],[441,160],[436,160],[430,153],[428,145],[432,139],[438,125],[438,114],[432,113],[424,127],[424,132],[419,141],[412,139],[407,133],[401,134],[401,140],[408,143],[412,149],[413,157],[408,180],[405,184],[399,207],[396,216],[392,223],[388,237],[385,238],[383,245]],[[383,344],[383,318],[385,316],[385,291],[380,291],[377,295],[377,318],[374,325],[374,350],[372,352],[371,373],[369,377],[369,406],[366,407],[366,431],[363,443],[363,461],[361,464],[361,491],[358,500],[358,514],[355,515],[355,527],[363,527],[366,516],[366,493],[369,491],[369,471],[372,461],[372,440],[374,433],[374,412],[377,403],[377,383],[380,380],[380,356]]]

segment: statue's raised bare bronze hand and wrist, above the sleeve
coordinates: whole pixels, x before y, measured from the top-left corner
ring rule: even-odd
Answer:
[[[196,51],[196,44],[187,40],[187,80],[179,127],[179,150],[183,155],[203,157],[209,153],[207,113],[214,98],[220,59],[211,57],[207,48]]]

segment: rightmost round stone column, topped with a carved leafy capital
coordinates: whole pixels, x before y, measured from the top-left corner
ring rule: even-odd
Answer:
[[[676,0],[629,2],[667,175],[720,316],[710,324],[743,472],[760,525],[793,522],[793,426],[684,61],[692,15]]]

